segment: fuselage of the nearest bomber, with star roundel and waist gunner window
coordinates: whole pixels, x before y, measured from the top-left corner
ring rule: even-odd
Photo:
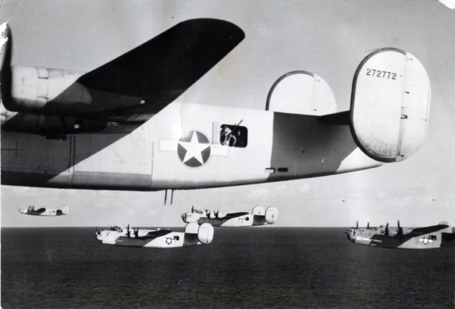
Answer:
[[[65,140],[21,132],[1,137],[1,183],[33,187],[193,189],[381,164],[357,147],[346,124],[177,101],[129,129],[110,127]]]

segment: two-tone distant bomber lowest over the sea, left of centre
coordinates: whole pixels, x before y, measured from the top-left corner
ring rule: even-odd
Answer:
[[[114,246],[143,248],[177,248],[208,244],[213,240],[213,226],[210,224],[187,224],[184,232],[168,229],[129,229],[113,226],[110,230],[97,230],[97,240]]]

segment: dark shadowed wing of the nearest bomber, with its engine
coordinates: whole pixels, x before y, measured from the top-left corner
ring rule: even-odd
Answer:
[[[45,117],[143,122],[148,118],[138,116],[159,112],[243,38],[242,29],[228,21],[182,21],[85,74],[9,66],[6,57],[9,72],[2,69],[2,84],[11,89],[2,89],[2,101],[6,110]]]

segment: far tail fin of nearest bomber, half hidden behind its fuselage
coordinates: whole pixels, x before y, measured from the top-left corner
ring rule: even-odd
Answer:
[[[320,76],[296,70],[282,75],[272,85],[265,109],[320,116],[336,112],[336,101],[330,86]]]

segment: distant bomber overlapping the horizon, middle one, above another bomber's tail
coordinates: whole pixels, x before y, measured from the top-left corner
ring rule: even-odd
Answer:
[[[242,227],[242,226],[258,226],[264,224],[274,224],[278,221],[278,209],[275,207],[267,207],[267,210],[262,206],[255,206],[252,213],[248,212],[233,212],[229,214],[220,213],[220,211],[200,211],[191,207],[191,212],[182,214],[184,222],[197,222],[198,224],[210,223],[213,226],[223,227]]]

